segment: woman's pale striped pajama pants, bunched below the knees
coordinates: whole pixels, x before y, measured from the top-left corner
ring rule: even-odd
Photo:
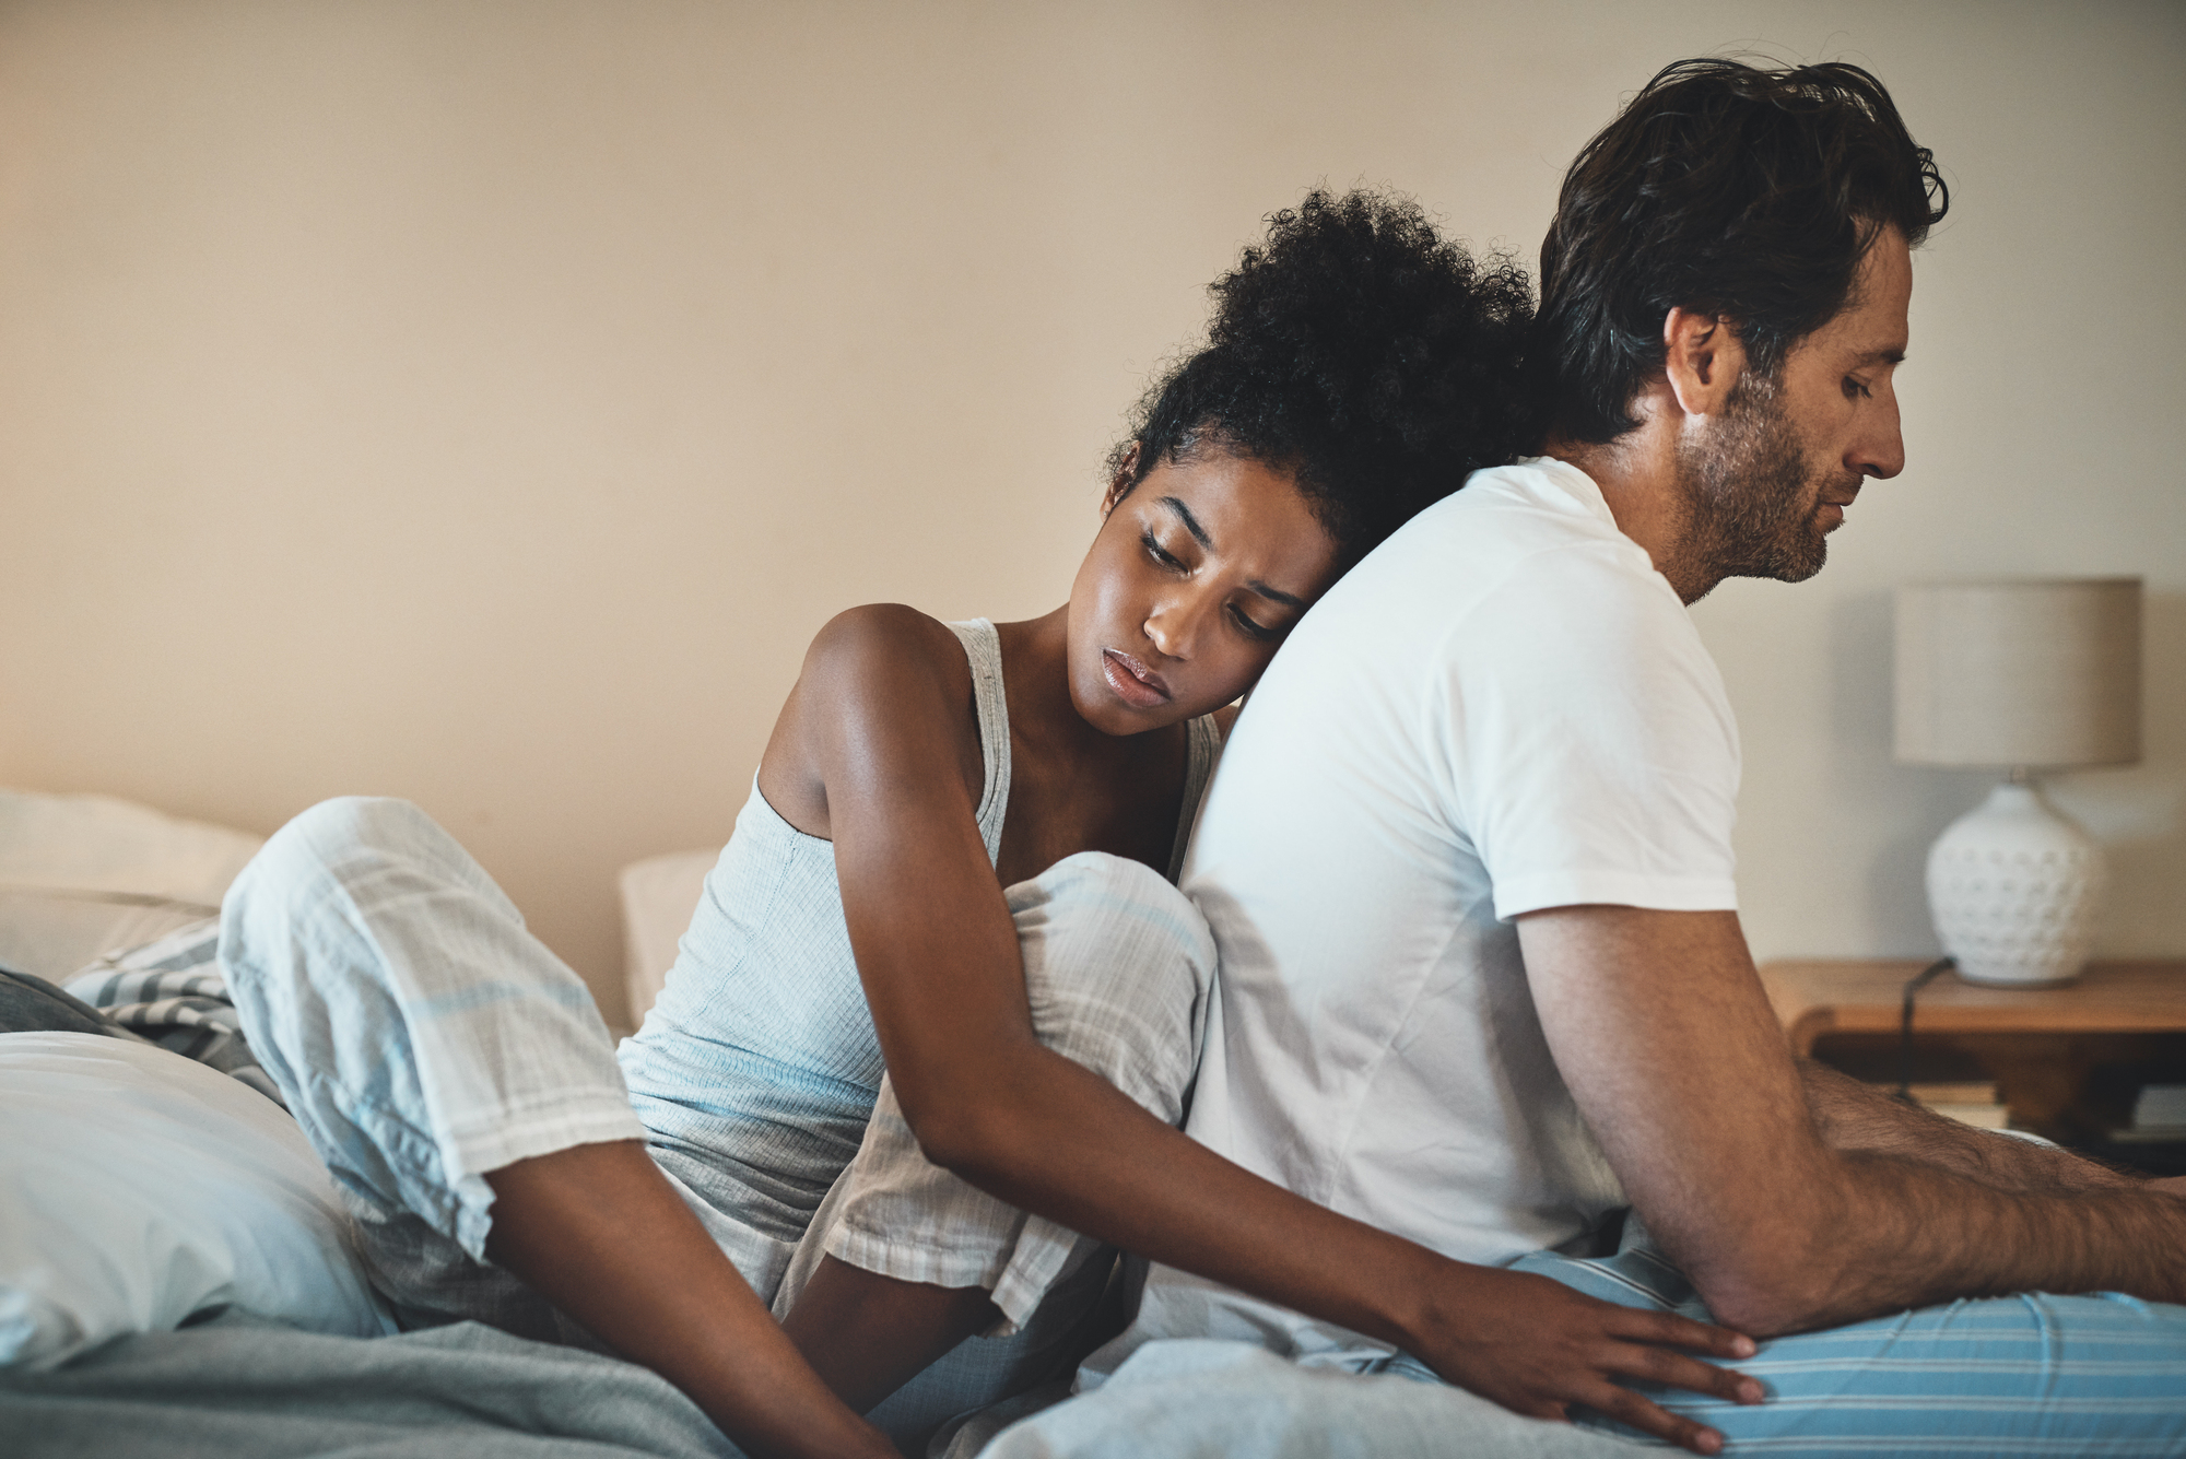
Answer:
[[[1183,1118],[1213,937],[1174,887],[1071,856],[1008,889],[1041,1037],[1161,1118]],[[599,1348],[485,1260],[485,1173],[601,1140],[645,1140],[590,992],[422,810],[337,799],[295,817],[221,909],[221,963],[251,1051],[354,1217],[404,1326],[487,1321]],[[783,970],[794,976],[796,970]],[[1067,1374],[1108,1249],[929,1164],[883,1083],[866,1142],[794,1252],[662,1175],[785,1313],[833,1252],[918,1282],[984,1284],[1008,1317],[874,1411],[898,1442]]]

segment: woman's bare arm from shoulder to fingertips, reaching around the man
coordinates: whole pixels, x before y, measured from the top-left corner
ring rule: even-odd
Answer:
[[[929,1160],[1071,1230],[1399,1345],[1519,1413],[1576,1402],[1712,1452],[1707,1431],[1613,1378],[1758,1398],[1751,1380],[1655,1345],[1744,1356],[1747,1339],[1452,1262],[1340,1217],[1045,1048],[975,788],[938,773],[964,764],[968,714],[953,636],[907,609],[861,609],[815,642],[761,773],[785,797],[824,786],[850,946]]]

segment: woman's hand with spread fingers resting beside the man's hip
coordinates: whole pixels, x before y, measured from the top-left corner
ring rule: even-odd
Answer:
[[[1530,1271],[1456,1267],[1436,1282],[1408,1352],[1458,1387],[1526,1418],[1570,1418],[1594,1409],[1696,1455],[1723,1450],[1723,1435],[1648,1402],[1620,1380],[1661,1383],[1709,1398],[1755,1404],[1762,1385],[1690,1359],[1753,1356],[1753,1339],[1674,1313],[1600,1302]]]

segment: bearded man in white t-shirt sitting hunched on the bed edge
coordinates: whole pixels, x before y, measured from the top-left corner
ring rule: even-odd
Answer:
[[[1904,465],[1943,205],[1852,66],[1683,61],[1580,153],[1543,459],[1331,590],[1224,756],[1185,876],[1222,954],[1187,1129],[1447,1256],[1775,1337],[1771,1402],[1659,1393],[1733,1446],[2186,1450],[2186,1201],[1795,1066],[1738,928],[1738,738],[1685,605],[1812,577]],[[1932,1306],[2022,1291],[2158,1306]],[[1161,1337],[1403,1365],[1154,1267],[1091,1369]]]

